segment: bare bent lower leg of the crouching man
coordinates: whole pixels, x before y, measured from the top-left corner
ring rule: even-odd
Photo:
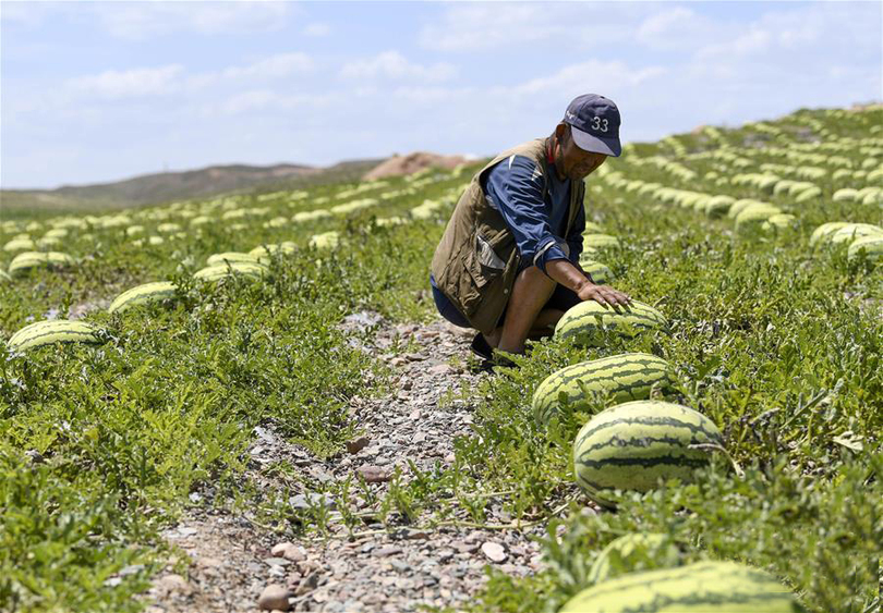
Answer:
[[[531,266],[522,270],[512,285],[512,295],[506,308],[503,328],[499,330],[499,342],[496,347],[500,351],[520,354],[524,353],[524,341],[529,335],[536,336],[547,333],[561,318],[564,311],[559,309],[544,309],[543,307],[555,292],[557,283],[546,277],[542,270]],[[494,346],[493,336],[488,343]]]

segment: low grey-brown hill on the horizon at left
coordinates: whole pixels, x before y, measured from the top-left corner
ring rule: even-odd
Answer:
[[[57,189],[2,189],[0,206],[7,210],[126,208],[263,187],[295,188],[358,181],[383,161],[353,160],[328,168],[300,164],[214,165],[184,172],[145,174],[114,183],[65,185]]]

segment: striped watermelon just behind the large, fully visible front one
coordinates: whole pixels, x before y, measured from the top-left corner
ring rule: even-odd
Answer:
[[[672,382],[667,361],[655,355],[629,353],[568,366],[546,377],[532,399],[534,416],[540,424],[558,410],[559,394],[571,404],[585,403],[586,394],[613,395],[616,402],[650,396],[653,385]],[[583,391],[584,390],[584,391]]]

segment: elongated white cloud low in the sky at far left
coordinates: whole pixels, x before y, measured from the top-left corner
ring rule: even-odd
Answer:
[[[128,71],[105,71],[100,74],[81,76],[68,81],[74,94],[97,98],[136,98],[169,94],[177,87],[184,72],[180,64]]]

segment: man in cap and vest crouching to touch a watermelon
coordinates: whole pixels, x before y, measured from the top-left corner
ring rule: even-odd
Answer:
[[[581,301],[613,308],[631,298],[596,285],[579,265],[585,229],[583,179],[618,157],[619,110],[579,96],[546,138],[494,158],[472,179],[436,248],[430,283],[439,312],[479,330],[472,350],[523,354]]]

